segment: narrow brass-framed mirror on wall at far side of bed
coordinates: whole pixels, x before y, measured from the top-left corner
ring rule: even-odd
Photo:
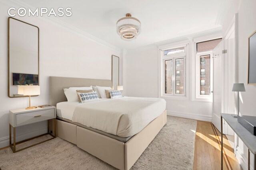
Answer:
[[[112,88],[117,90],[119,85],[119,57],[112,55]]]

